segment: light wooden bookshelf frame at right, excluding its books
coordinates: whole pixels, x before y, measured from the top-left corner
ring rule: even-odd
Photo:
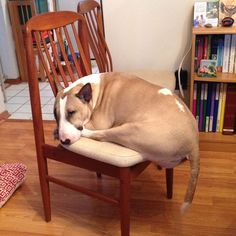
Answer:
[[[195,72],[195,50],[198,35],[225,35],[236,34],[234,27],[193,28],[192,30],[192,55],[191,55],[191,82],[190,82],[190,109],[193,111],[194,82],[208,83],[236,83],[236,73],[220,73],[214,78],[199,77]],[[236,152],[236,135],[223,135],[220,132],[200,132],[201,150]]]

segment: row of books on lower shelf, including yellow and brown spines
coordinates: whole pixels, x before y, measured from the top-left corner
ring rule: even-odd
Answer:
[[[236,84],[195,82],[193,115],[199,131],[236,133]]]

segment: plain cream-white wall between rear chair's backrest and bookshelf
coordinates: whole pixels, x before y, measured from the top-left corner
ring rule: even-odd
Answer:
[[[114,68],[177,69],[191,43],[194,0],[103,0]],[[186,66],[189,68],[190,57]]]

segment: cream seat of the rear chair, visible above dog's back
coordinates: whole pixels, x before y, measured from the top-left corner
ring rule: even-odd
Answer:
[[[175,90],[175,75],[170,71],[161,71],[161,70],[140,70],[140,71],[131,71],[129,74],[133,74],[142,78],[150,83],[159,85],[164,88],[168,88],[170,91],[174,92]]]

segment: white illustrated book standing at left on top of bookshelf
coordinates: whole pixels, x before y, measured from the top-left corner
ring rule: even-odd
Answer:
[[[206,24],[218,26],[219,1],[208,0],[194,3],[194,27],[204,27]]]

